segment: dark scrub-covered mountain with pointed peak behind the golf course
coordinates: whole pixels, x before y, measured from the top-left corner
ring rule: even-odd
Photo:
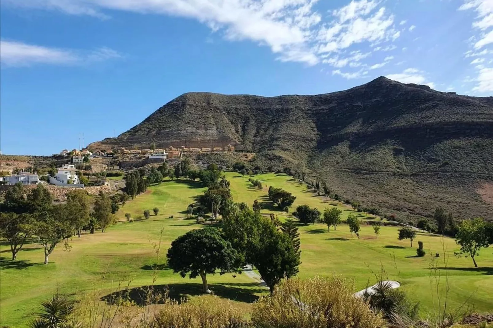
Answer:
[[[349,90],[260,97],[187,93],[90,148],[224,146],[325,180],[337,194],[401,217],[442,205],[491,216],[493,97],[379,77]],[[483,194],[483,198],[482,198]]]

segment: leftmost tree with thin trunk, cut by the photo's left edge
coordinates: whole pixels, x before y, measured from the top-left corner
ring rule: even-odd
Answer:
[[[32,233],[32,220],[29,214],[0,213],[0,237],[7,240],[12,252],[12,261],[22,249]]]

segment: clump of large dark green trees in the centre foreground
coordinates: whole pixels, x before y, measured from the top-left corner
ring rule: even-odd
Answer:
[[[209,292],[207,274],[241,272],[246,264],[256,267],[271,292],[284,277],[292,277],[300,264],[300,240],[292,220],[278,230],[272,220],[248,208],[228,202],[221,230],[192,230],[172,242],[168,264],[182,277],[200,276]]]

